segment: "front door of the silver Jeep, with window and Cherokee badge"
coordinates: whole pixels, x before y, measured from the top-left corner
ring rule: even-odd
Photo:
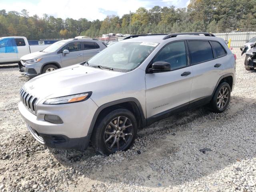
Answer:
[[[170,63],[170,72],[146,74],[147,118],[169,109],[188,104],[192,86],[192,68],[188,66],[185,41],[167,44],[151,63]]]

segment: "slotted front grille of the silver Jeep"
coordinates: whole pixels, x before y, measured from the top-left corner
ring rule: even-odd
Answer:
[[[24,87],[20,89],[20,100],[33,114],[36,114],[36,101],[38,98],[30,94]]]

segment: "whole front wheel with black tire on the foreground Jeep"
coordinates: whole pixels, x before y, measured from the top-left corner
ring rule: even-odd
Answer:
[[[118,127],[116,127],[118,117],[119,124]],[[126,118],[127,120],[125,121]],[[110,125],[111,122],[113,122],[114,126]],[[132,126],[130,126],[130,124]],[[124,128],[126,126],[127,128]],[[96,122],[92,133],[92,144],[96,152],[102,155],[109,155],[116,151],[124,151],[129,149],[130,146],[133,144],[134,139],[137,135],[137,130],[137,120],[134,117],[134,114],[132,114],[132,112],[130,112],[129,110],[120,108],[112,110],[110,112],[105,112],[98,118]],[[116,142],[114,143],[114,141]]]

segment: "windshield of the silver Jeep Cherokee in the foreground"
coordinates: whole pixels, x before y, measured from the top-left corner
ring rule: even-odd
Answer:
[[[154,42],[118,42],[96,54],[85,65],[128,72],[137,68],[157,45]]]

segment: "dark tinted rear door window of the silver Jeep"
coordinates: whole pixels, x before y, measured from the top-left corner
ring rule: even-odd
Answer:
[[[213,59],[212,46],[208,41],[188,41],[192,64]]]

